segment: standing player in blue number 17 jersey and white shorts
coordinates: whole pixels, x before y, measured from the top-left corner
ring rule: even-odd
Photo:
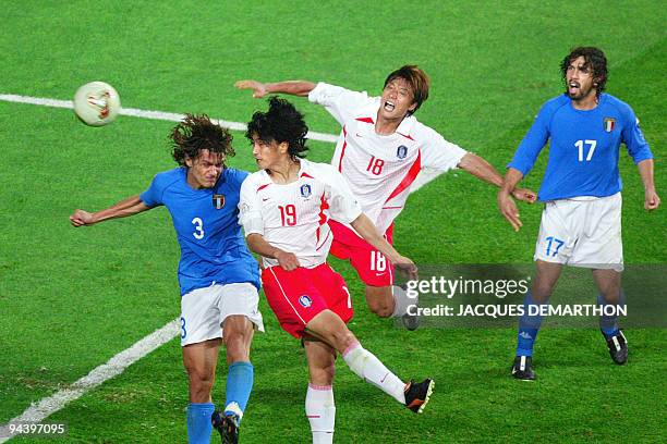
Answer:
[[[546,203],[535,246],[536,276],[523,301],[512,375],[534,380],[533,345],[542,324],[529,307],[548,304],[563,264],[590,268],[601,306],[624,304],[620,288],[621,244],[620,144],[639,168],[644,184],[644,208],[655,210],[660,199],[653,182],[653,155],[632,109],[603,92],[607,59],[593,47],[572,50],[562,60],[566,92],[547,101],[508,165],[498,206],[514,230],[521,226],[509,192],[525,176],[550,140],[549,159],[538,198]],[[611,311],[611,310],[609,310]],[[611,359],[626,363],[628,343],[618,316],[599,320]]]

